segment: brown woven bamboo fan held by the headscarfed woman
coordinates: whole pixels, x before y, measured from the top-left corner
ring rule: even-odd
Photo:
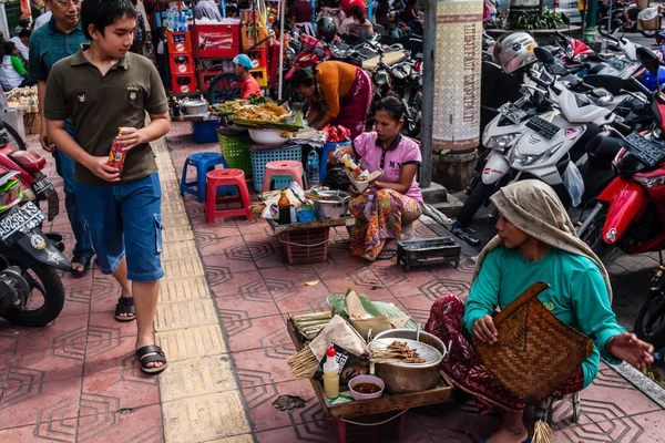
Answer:
[[[492,375],[519,399],[544,400],[591,354],[592,341],[538,299],[550,285],[533,284],[494,317],[499,342],[473,344]]]

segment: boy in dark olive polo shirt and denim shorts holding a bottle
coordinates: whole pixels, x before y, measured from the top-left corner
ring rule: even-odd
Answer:
[[[156,373],[166,368],[152,336],[164,276],[162,190],[149,142],[168,132],[168,102],[152,62],[129,52],[136,29],[130,0],[83,0],[81,22],[92,42],[51,70],[48,135],[76,162],[76,196],[101,271],[122,287],[115,319],[136,319],[141,370]],[[68,119],[76,127],[74,137]],[[109,164],[115,144],[123,146],[122,167]]]

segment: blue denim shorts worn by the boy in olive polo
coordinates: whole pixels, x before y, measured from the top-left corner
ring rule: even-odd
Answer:
[[[76,196],[102,274],[113,274],[126,256],[127,279],[155,281],[164,277],[157,173],[113,186],[76,183]]]

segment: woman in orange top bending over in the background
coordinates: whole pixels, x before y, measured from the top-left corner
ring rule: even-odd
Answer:
[[[323,62],[314,70],[297,70],[290,79],[295,92],[309,99],[307,122],[317,130],[341,125],[355,138],[365,132],[371,103],[371,79],[362,69],[341,62]],[[326,114],[320,119],[323,105]]]

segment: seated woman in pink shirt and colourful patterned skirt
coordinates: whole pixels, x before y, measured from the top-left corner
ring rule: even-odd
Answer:
[[[400,134],[405,107],[396,97],[381,100],[376,107],[375,132],[360,134],[344,152],[360,158],[360,167],[383,175],[349,204],[356,217],[350,230],[351,255],[390,259],[402,225],[422,214],[422,194],[416,182],[422,155],[418,143]],[[338,161],[330,155],[329,162]]]

